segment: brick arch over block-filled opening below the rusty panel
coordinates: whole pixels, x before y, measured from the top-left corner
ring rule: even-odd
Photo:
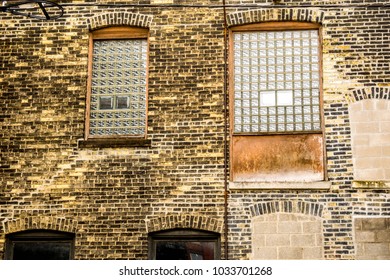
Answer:
[[[293,213],[321,218],[324,216],[324,212],[322,204],[306,201],[267,201],[250,207],[252,217],[273,213]]]

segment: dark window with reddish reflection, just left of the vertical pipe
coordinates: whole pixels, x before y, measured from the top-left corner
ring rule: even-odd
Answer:
[[[149,235],[149,259],[220,259],[219,234],[196,230],[167,230]]]

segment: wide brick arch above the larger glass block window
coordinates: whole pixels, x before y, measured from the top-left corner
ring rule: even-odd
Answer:
[[[228,26],[243,25],[266,21],[304,21],[322,23],[325,18],[323,11],[305,8],[271,8],[250,11],[240,11],[227,15]]]

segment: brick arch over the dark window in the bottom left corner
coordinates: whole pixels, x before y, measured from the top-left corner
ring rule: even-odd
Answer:
[[[64,232],[77,230],[77,223],[73,220],[57,217],[27,217],[3,222],[5,234],[32,229],[46,229]]]

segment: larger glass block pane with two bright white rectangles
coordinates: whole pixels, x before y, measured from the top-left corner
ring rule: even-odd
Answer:
[[[321,130],[318,30],[233,33],[234,132]]]

